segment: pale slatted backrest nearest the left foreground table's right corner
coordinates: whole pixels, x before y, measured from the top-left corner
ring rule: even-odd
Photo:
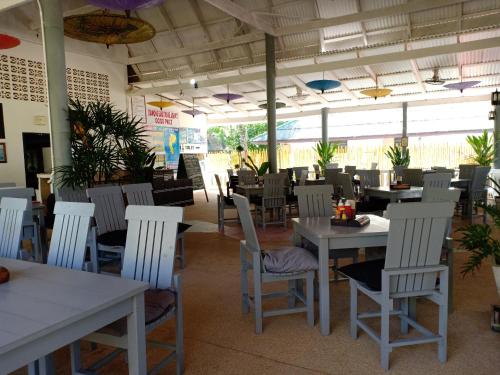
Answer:
[[[173,286],[177,226],[182,216],[182,207],[127,207],[122,277],[148,282],[153,289]]]

